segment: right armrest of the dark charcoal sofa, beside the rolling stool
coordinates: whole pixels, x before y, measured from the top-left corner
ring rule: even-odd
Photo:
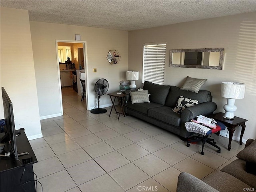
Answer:
[[[212,114],[217,108],[216,103],[214,102],[205,102],[200,103],[198,105],[188,107],[182,111],[180,120],[181,120],[181,128],[180,128],[180,136],[186,138],[190,135],[190,133],[187,132],[185,123],[190,122],[192,119],[196,118],[198,115],[204,115],[207,116],[209,114]]]

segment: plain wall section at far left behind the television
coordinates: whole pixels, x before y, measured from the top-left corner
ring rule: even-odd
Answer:
[[[42,137],[28,11],[1,7],[1,87],[13,102],[15,128]],[[1,119],[4,118],[1,93]]]

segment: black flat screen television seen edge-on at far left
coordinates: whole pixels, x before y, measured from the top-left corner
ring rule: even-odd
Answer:
[[[1,137],[1,143],[5,142],[10,145],[10,157],[18,160],[18,151],[16,145],[16,133],[13,116],[12,101],[10,100],[6,90],[2,87],[2,99],[4,106],[4,136]]]

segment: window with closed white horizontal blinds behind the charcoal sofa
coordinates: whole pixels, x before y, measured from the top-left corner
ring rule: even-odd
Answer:
[[[164,84],[166,42],[144,44],[143,47],[142,83]]]

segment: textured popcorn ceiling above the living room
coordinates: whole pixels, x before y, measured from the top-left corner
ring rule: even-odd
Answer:
[[[0,0],[31,21],[137,30],[256,11],[255,0]]]

